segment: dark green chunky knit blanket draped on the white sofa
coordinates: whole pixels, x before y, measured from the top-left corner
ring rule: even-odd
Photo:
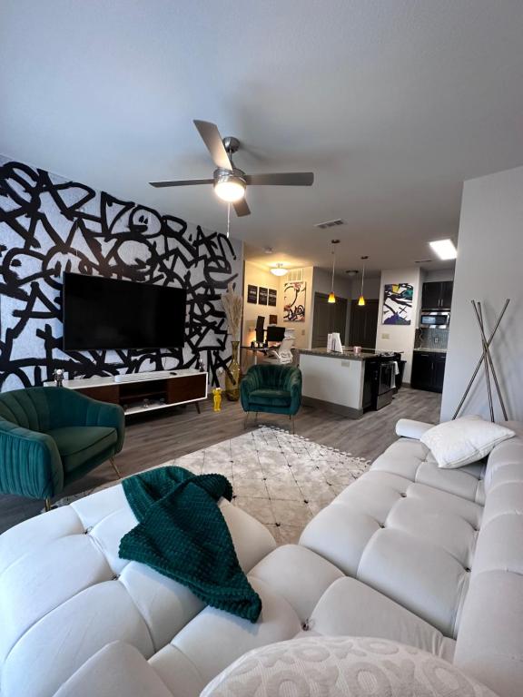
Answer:
[[[217,504],[232,499],[222,475],[193,475],[159,467],[123,480],[138,525],[120,542],[123,559],[142,562],[207,604],[256,622],[260,596],[242,572],[231,533]]]

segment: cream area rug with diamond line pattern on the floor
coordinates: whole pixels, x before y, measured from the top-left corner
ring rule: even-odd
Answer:
[[[232,503],[266,525],[281,544],[297,542],[313,515],[362,475],[370,462],[280,428],[261,426],[242,436],[163,463],[194,474],[216,472],[232,483]],[[92,491],[67,496],[65,506]]]

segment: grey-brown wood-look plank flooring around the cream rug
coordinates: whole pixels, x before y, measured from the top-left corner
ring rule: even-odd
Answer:
[[[354,456],[374,460],[395,438],[399,418],[439,422],[441,396],[418,389],[401,388],[392,404],[350,420],[316,407],[301,407],[296,434],[325,446],[338,447]],[[123,476],[160,465],[166,460],[212,446],[245,432],[244,413],[238,402],[222,401],[222,411],[212,411],[212,400],[202,404],[202,414],[193,405],[151,412],[128,419],[123,451],[116,463]],[[251,426],[256,427],[253,417]],[[289,419],[261,414],[259,423],[288,427]],[[114,478],[109,463],[99,466],[64,490],[63,496],[101,486]],[[19,496],[0,496],[0,532],[37,515],[43,502]]]

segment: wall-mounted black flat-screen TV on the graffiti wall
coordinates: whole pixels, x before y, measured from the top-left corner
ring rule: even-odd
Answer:
[[[64,273],[64,350],[182,347],[186,299],[181,288]]]

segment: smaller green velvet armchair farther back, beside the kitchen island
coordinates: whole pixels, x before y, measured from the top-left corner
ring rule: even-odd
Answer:
[[[240,397],[247,418],[251,411],[286,414],[294,430],[294,415],[301,405],[301,370],[276,363],[251,366],[240,383]]]

